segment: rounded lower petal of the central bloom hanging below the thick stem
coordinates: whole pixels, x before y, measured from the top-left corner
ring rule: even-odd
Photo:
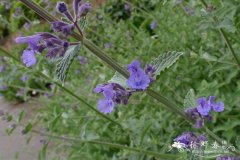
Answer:
[[[111,113],[114,109],[114,102],[111,99],[100,99],[98,101],[98,109],[102,113]]]

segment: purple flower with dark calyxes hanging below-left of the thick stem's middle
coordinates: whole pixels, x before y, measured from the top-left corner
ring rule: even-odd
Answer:
[[[110,113],[114,109],[114,103],[126,105],[131,91],[125,90],[117,83],[100,84],[94,89],[95,93],[102,93],[104,99],[98,101],[98,109],[103,113]]]

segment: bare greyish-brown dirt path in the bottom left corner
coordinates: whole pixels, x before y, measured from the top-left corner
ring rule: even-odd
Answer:
[[[17,117],[17,115],[24,110],[26,116],[24,121],[27,121],[36,111],[33,108],[38,107],[36,104],[20,104],[13,105],[5,102],[0,97],[0,110],[9,112]],[[4,120],[0,121],[0,160],[37,160],[38,151],[41,148],[40,140],[42,137],[38,135],[22,135],[21,129],[17,128],[12,135],[8,136],[6,128],[12,123]],[[31,136],[32,139],[29,144],[26,144],[26,139]],[[18,157],[18,158],[16,158]]]

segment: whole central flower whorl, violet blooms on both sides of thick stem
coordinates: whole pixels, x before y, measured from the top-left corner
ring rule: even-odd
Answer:
[[[127,85],[129,88],[125,89],[117,83],[108,83],[100,84],[94,89],[94,92],[103,93],[104,95],[104,98],[98,101],[98,109],[101,112],[112,112],[115,103],[126,105],[132,93],[147,89],[149,84],[153,81],[155,69],[151,65],[147,65],[145,70],[143,70],[140,67],[140,62],[134,60],[128,65],[127,69],[130,73],[129,78],[127,79]]]

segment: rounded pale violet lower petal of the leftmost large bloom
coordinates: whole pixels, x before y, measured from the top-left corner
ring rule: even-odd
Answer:
[[[37,59],[35,57],[35,53],[33,50],[24,50],[22,54],[22,61],[26,65],[26,67],[30,67],[35,65]]]

